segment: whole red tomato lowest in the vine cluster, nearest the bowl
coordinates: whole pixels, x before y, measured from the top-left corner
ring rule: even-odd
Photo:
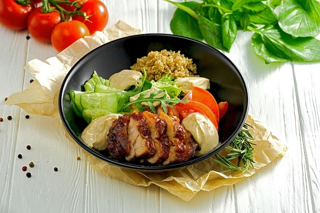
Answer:
[[[90,32],[81,21],[64,21],[53,29],[51,43],[58,52],[61,52],[76,40],[88,35]]]

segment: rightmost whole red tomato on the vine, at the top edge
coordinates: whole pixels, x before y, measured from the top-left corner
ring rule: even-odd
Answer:
[[[89,0],[85,2],[79,11],[83,11],[87,16],[90,16],[88,20],[85,20],[81,15],[75,15],[72,19],[84,22],[90,31],[90,35],[96,31],[102,31],[108,23],[108,10],[105,4],[99,0]]]

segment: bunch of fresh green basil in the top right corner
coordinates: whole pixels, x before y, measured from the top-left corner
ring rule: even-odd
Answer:
[[[177,7],[170,22],[173,34],[230,52],[239,30],[253,31],[252,48],[266,64],[320,61],[318,0],[164,1]]]

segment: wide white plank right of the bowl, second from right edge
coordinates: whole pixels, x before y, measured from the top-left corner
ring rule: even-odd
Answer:
[[[239,212],[279,212],[281,209],[310,212],[312,199],[302,152],[300,121],[299,116],[294,116],[299,109],[292,66],[289,62],[265,65],[250,50],[247,33],[238,34],[237,39],[241,40],[233,51],[238,56],[233,58],[231,53],[230,57],[246,79],[250,92],[249,113],[289,146],[285,158],[235,184]]]

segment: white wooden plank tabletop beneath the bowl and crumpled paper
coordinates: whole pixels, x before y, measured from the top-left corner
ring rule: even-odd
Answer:
[[[176,8],[164,1],[103,2],[107,28],[124,19],[145,33],[171,34]],[[185,202],[155,185],[137,187],[96,172],[51,117],[26,119],[23,109],[5,105],[6,97],[33,79],[23,68],[26,62],[57,52],[27,40],[28,31],[0,26],[0,212],[320,212],[320,63],[265,65],[250,47],[251,35],[240,32],[226,55],[247,82],[249,114],[289,149],[253,177]],[[21,168],[31,161],[35,167],[28,166],[27,178]]]

